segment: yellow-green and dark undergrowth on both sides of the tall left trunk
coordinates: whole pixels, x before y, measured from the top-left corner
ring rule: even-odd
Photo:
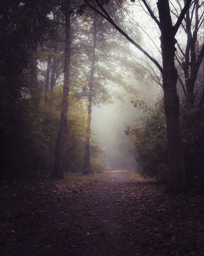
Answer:
[[[10,129],[4,126],[4,137],[7,139],[7,150],[10,153],[7,155],[6,176],[31,177],[49,175],[52,172],[59,129],[61,95],[62,86],[59,85],[49,92],[49,105],[45,105],[40,98],[39,105],[35,105],[31,97],[21,98],[18,103],[19,129],[14,127],[14,122],[12,126],[10,125]],[[0,125],[3,126],[2,123]],[[72,172],[82,170],[85,131],[86,104],[83,100],[72,98],[70,95],[64,170]]]

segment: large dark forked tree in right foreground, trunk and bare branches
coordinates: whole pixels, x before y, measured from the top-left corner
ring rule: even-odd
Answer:
[[[108,3],[107,1],[106,3]],[[132,2],[135,2],[134,0]],[[159,62],[154,59],[148,52],[146,52],[141,46],[138,45],[129,35],[127,35],[111,18],[109,13],[106,11],[104,1],[88,1],[84,0],[84,3],[94,10],[97,14],[104,17],[110,22],[116,30],[118,30],[124,37],[127,38],[136,48],[144,53],[162,73],[163,77],[163,90],[164,90],[164,109],[167,125],[167,140],[168,140],[168,153],[170,162],[170,186],[174,193],[180,193],[186,189],[186,174],[184,165],[184,153],[181,140],[181,130],[179,123],[179,97],[176,93],[176,82],[177,82],[177,71],[175,69],[175,35],[177,30],[182,24],[182,20],[188,11],[191,0],[187,0],[184,8],[181,10],[179,18],[175,25],[172,25],[169,1],[163,0],[158,1],[157,7],[159,11],[159,20],[152,12],[148,3],[142,1],[147,12],[149,12],[152,19],[159,26],[161,31],[161,51],[163,67],[160,66]],[[85,6],[82,5],[82,9]]]

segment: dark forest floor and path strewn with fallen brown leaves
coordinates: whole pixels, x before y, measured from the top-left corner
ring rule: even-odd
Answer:
[[[204,255],[204,195],[128,172],[4,181],[1,255]]]

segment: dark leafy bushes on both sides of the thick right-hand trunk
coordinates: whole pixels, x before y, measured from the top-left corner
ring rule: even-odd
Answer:
[[[135,143],[142,174],[167,181],[169,163],[163,101],[153,108],[146,108],[145,102],[139,104],[144,110],[140,124],[127,127],[126,134]],[[185,102],[181,104],[181,131],[188,181],[204,184],[204,109],[188,108]]]

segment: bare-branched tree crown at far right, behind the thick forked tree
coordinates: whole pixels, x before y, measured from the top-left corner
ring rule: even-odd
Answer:
[[[181,7],[180,1],[176,1],[177,6]],[[172,4],[173,5],[173,4]],[[178,17],[177,11],[172,13]],[[204,56],[204,41],[203,41],[203,18],[204,7],[201,1],[193,1],[191,7],[187,10],[183,20],[181,31],[186,35],[186,45],[181,42],[176,42],[177,51],[175,54],[176,61],[182,70],[180,72],[180,82],[187,98],[187,104],[192,106],[196,98],[195,82],[199,68]],[[200,102],[200,104],[202,104]]]

